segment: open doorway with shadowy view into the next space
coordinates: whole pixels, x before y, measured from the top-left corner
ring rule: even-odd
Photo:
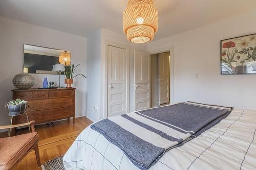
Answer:
[[[151,55],[151,107],[170,103],[170,52]]]

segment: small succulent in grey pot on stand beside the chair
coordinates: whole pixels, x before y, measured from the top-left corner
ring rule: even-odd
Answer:
[[[8,102],[6,107],[8,107],[8,114],[10,116],[15,116],[18,114],[23,114],[27,108],[27,102],[24,100],[16,99]]]

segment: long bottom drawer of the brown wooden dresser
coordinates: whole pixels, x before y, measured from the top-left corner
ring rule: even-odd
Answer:
[[[64,107],[58,109],[49,110],[38,110],[38,111],[28,111],[29,121],[35,120],[35,124],[51,122],[61,118],[72,117],[74,113],[73,107]],[[15,116],[15,124],[22,124],[27,122],[26,114]]]

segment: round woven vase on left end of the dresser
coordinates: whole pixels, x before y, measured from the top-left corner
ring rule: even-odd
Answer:
[[[29,89],[35,84],[35,78],[29,74],[20,73],[14,76],[12,83],[18,89]]]

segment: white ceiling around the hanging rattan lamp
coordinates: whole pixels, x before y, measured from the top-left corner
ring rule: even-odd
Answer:
[[[83,37],[99,28],[122,34],[127,0],[1,0],[0,16]],[[155,40],[255,10],[255,0],[155,0]]]

